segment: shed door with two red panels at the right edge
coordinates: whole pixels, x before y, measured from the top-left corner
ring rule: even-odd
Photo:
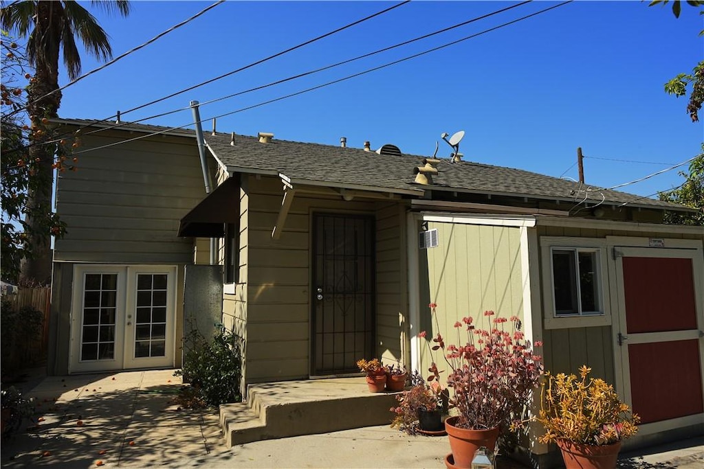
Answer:
[[[620,345],[626,399],[641,431],[704,416],[702,262],[699,250],[616,248]]]

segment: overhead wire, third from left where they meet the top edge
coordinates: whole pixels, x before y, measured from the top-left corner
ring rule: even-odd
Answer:
[[[435,31],[435,32],[432,32],[432,33],[429,33],[429,34],[425,34],[425,35],[420,36],[420,37],[416,37],[415,39],[409,39],[408,41],[400,42],[400,43],[398,43],[398,44],[395,44],[394,46],[388,46],[388,47],[385,47],[384,49],[379,49],[379,50],[374,51],[374,52],[365,53],[365,54],[363,54],[363,55],[361,55],[361,56],[357,56],[357,57],[355,57],[355,58],[349,58],[349,59],[347,59],[347,60],[342,60],[341,62],[334,63],[334,64],[332,64],[332,65],[327,65],[327,66],[322,67],[322,68],[318,68],[318,69],[315,69],[315,70],[309,70],[308,72],[303,72],[303,73],[300,73],[300,74],[298,74],[298,75],[293,75],[293,76],[291,76],[291,77],[279,79],[279,80],[277,80],[276,82],[270,82],[270,83],[268,83],[268,84],[264,84],[264,85],[261,85],[261,86],[256,86],[256,87],[254,87],[254,88],[250,88],[250,89],[247,89],[247,90],[244,90],[244,91],[238,91],[237,93],[234,93],[234,94],[230,94],[230,95],[227,95],[227,96],[222,96],[222,97],[220,97],[220,98],[215,98],[215,99],[212,99],[212,100],[210,100],[210,101],[205,101],[205,102],[203,102],[203,103],[200,103],[199,105],[200,105],[201,107],[203,107],[204,105],[208,105],[208,104],[212,104],[212,103],[217,103],[218,101],[225,101],[226,99],[230,99],[230,98],[234,98],[234,97],[236,97],[236,96],[241,96],[241,95],[243,95],[243,94],[251,93],[252,91],[259,91],[260,89],[265,89],[265,88],[268,88],[268,87],[270,87],[270,86],[275,86],[275,85],[277,85],[277,84],[282,84],[282,83],[285,83],[285,82],[290,82],[291,80],[298,79],[298,78],[302,78],[302,77],[306,77],[306,76],[308,76],[308,75],[313,75],[313,74],[318,73],[318,72],[322,72],[322,71],[329,70],[329,69],[332,69],[332,68],[335,68],[335,67],[339,67],[340,65],[346,65],[346,64],[352,63],[352,62],[354,62],[354,61],[356,61],[356,60],[360,60],[360,59],[363,59],[363,58],[375,56],[375,55],[378,54],[378,53],[382,53],[382,52],[386,52],[386,51],[391,51],[392,49],[396,49],[396,48],[401,47],[401,46],[406,46],[406,45],[411,44],[411,43],[413,43],[413,42],[415,42],[415,41],[420,41],[420,40],[422,40],[422,39],[427,39],[427,38],[429,38],[429,37],[435,36],[436,34],[441,34],[441,33],[443,33],[443,32],[447,32],[447,31],[450,31],[450,30],[454,30],[454,29],[456,29],[456,28],[458,28],[458,27],[462,27],[462,26],[468,25],[468,24],[470,24],[470,23],[474,23],[475,21],[483,20],[483,19],[485,19],[485,18],[489,18],[490,16],[496,15],[496,14],[498,14],[498,13],[503,13],[504,11],[508,11],[508,10],[510,10],[510,9],[512,9],[512,8],[516,8],[517,6],[522,6],[522,5],[525,5],[525,4],[529,4],[531,1],[532,1],[532,0],[527,0],[527,1],[524,1],[524,2],[522,2],[522,3],[520,3],[520,4],[515,4],[515,5],[512,5],[512,6],[508,6],[508,7],[506,7],[506,8],[502,8],[501,10],[497,10],[497,11],[494,11],[494,12],[491,12],[491,13],[487,13],[486,15],[478,16],[477,18],[472,18],[471,20],[464,21],[463,23],[458,23],[457,25],[453,25],[453,26],[450,26],[450,27],[446,27],[446,28],[444,28],[444,29],[442,29],[442,30],[438,30],[438,31]],[[191,108],[190,106],[187,106],[187,107],[184,107],[184,108],[179,108],[179,109],[175,109],[175,110],[170,110],[170,111],[166,111],[165,113],[161,113],[161,114],[157,114],[157,115],[151,115],[151,116],[149,116],[149,117],[144,117],[144,118],[139,119],[139,120],[133,120],[133,121],[130,121],[130,122],[128,122],[128,123],[137,124],[137,123],[139,123],[139,122],[144,122],[145,120],[151,120],[151,119],[156,119],[156,118],[158,118],[158,117],[163,117],[163,116],[165,116],[165,115],[170,115],[170,114],[174,114],[174,113],[180,113],[181,111],[183,111],[183,110],[189,110],[190,108]],[[103,128],[101,128],[101,129],[96,129],[96,130],[93,130],[93,131],[86,132],[84,135],[90,135],[90,134],[95,134],[95,133],[101,132],[101,131],[116,129],[116,128],[118,128],[118,127],[122,127],[123,125],[126,125],[126,124],[125,124],[125,123],[120,123],[120,124],[115,124],[115,125],[113,125],[113,126],[111,126],[111,127],[103,127]],[[81,129],[84,129],[85,127],[89,127],[89,126],[83,126],[83,127],[81,127]],[[52,142],[46,142],[46,143],[52,143]]]

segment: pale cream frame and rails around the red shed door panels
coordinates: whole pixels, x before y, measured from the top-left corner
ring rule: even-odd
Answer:
[[[607,236],[610,246],[609,257],[609,283],[610,300],[614,320],[612,322],[612,337],[614,347],[614,367],[616,376],[616,389],[625,403],[632,406],[631,378],[629,373],[629,352],[627,345],[648,342],[665,342],[668,340],[699,340],[699,362],[702,375],[702,388],[704,389],[704,255],[702,243],[698,240],[660,239],[656,243],[652,238],[630,238]],[[653,244],[662,247],[653,247]],[[696,307],[696,330],[626,334],[626,302],[624,297],[623,257],[659,257],[659,258],[685,258],[692,259],[694,295]],[[627,335],[624,346],[618,343],[619,333]],[[639,433],[648,435],[652,433],[682,428],[701,423],[704,414],[685,416],[663,420],[660,422],[639,425]]]

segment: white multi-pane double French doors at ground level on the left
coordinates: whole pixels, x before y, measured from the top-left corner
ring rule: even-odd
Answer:
[[[70,372],[174,365],[174,266],[75,266]]]

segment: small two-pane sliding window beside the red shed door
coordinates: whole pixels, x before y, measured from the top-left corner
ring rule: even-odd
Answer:
[[[552,248],[551,254],[555,316],[603,314],[600,250]]]

